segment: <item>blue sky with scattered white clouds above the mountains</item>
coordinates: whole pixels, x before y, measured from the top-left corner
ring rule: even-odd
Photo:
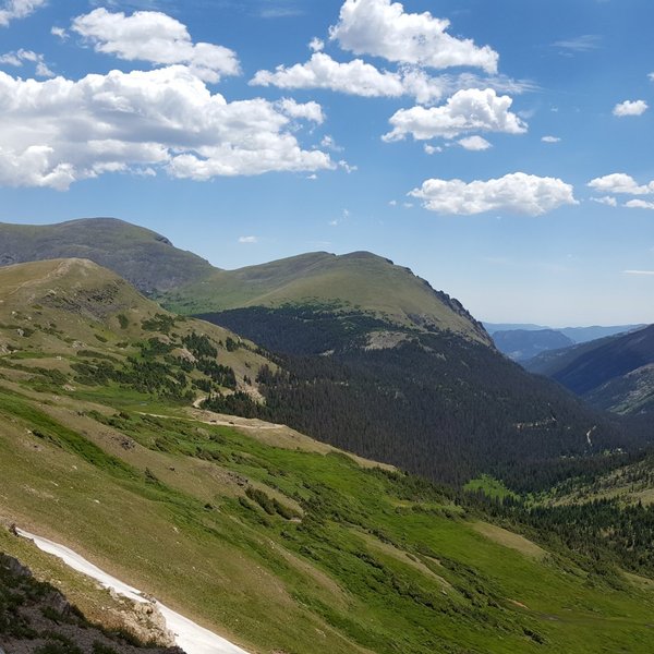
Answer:
[[[654,323],[651,0],[0,0],[0,221],[366,250],[494,323]]]

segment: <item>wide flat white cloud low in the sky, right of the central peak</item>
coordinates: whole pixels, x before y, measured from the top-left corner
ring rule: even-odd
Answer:
[[[439,214],[470,216],[485,211],[510,211],[540,216],[564,205],[579,204],[573,189],[556,178],[514,172],[495,180],[426,180],[409,193]]]

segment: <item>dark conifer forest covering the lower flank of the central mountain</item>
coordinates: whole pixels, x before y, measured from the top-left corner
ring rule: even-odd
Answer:
[[[279,353],[278,370],[258,378],[264,407],[219,397],[209,405],[283,422],[439,481],[462,484],[494,472],[533,489],[647,438],[646,428],[625,429],[495,349],[457,335],[311,307],[205,317]]]

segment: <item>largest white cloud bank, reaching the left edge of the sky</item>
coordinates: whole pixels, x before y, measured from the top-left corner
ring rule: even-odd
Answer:
[[[148,168],[194,180],[335,168],[295,135],[293,120],[317,121],[318,105],[228,102],[182,65],[80,81],[0,72],[0,185],[65,190]]]

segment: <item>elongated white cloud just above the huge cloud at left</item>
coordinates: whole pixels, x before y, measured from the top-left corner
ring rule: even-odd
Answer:
[[[126,61],[185,64],[206,82],[240,73],[235,53],[222,46],[191,40],[185,25],[158,11],[137,11],[131,16],[104,8],[77,16],[73,32],[93,44],[97,52]]]

